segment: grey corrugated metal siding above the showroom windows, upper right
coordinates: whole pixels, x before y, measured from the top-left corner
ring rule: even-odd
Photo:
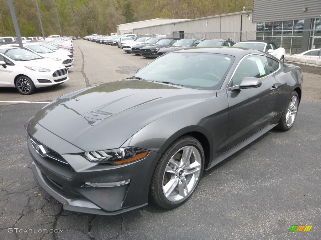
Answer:
[[[253,22],[320,18],[320,15],[320,0],[253,0]]]

